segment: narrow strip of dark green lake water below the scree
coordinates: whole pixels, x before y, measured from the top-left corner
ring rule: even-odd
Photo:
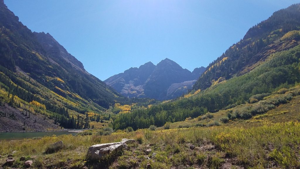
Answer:
[[[71,131],[71,130],[69,130]],[[77,133],[68,132],[68,131],[47,131],[47,132],[7,132],[0,133],[1,140],[23,140],[23,139],[32,139],[34,137],[44,137],[52,135],[62,135],[62,134],[72,134],[73,136]]]

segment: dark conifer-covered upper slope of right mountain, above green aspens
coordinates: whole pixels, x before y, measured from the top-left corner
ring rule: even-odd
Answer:
[[[285,44],[280,39],[287,32],[299,30],[299,4],[273,13],[271,17],[248,30],[241,41],[232,45],[198,79],[193,89],[206,89],[219,78],[242,75],[263,62],[274,51],[293,48],[297,43]]]

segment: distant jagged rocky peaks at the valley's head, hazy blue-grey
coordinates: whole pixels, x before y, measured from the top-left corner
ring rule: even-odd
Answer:
[[[200,67],[190,72],[166,58],[156,66],[148,62],[113,75],[104,82],[129,98],[173,99],[190,90],[205,69]]]

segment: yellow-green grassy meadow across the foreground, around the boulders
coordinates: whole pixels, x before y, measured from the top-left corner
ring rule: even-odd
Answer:
[[[89,146],[135,139],[116,158],[88,161]],[[47,146],[62,140],[64,148],[45,154]],[[33,161],[32,168],[299,168],[300,123],[285,122],[261,127],[198,127],[99,136],[52,136],[32,140],[1,141],[0,164],[13,151],[12,167],[23,168],[21,156]],[[196,146],[190,149],[189,146]],[[146,154],[146,149],[152,149]],[[156,153],[153,155],[152,153]],[[149,157],[149,159],[147,158]],[[3,168],[8,168],[2,165]]]

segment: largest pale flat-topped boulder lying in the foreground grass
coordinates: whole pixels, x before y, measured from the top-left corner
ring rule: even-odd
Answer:
[[[116,143],[96,144],[88,148],[87,157],[90,160],[101,160],[107,155],[114,154],[123,149],[127,149],[127,144],[132,142],[135,142],[135,140],[122,139],[121,142]]]

